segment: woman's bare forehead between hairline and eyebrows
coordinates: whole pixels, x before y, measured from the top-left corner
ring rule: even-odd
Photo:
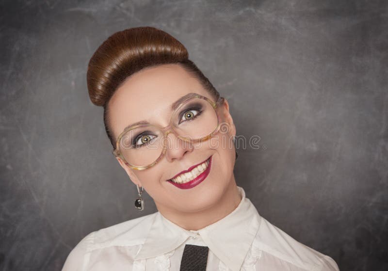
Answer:
[[[171,104],[191,92],[212,99],[201,83],[178,64],[163,64],[133,74],[109,101],[114,135],[142,120],[166,126]]]

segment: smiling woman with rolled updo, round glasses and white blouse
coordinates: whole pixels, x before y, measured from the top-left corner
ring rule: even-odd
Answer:
[[[113,154],[158,212],[92,232],[64,271],[338,270],[335,261],[260,217],[236,185],[229,104],[166,32],[110,36],[87,72]]]

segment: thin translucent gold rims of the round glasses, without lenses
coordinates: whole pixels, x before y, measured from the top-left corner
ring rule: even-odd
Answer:
[[[173,125],[173,118],[175,116],[175,114],[178,112],[178,110],[183,106],[183,104],[185,104],[186,102],[188,102],[189,100],[192,100],[194,98],[200,98],[200,99],[204,99],[206,100],[207,102],[210,103],[211,107],[214,109],[214,112],[216,113],[217,115],[217,126],[216,128],[214,128],[214,130],[209,134],[207,135],[206,137],[204,138],[199,138],[199,139],[190,139],[188,140],[187,138],[185,138],[184,136],[180,136],[177,134],[177,132],[174,130],[174,125]],[[220,128],[220,115],[218,113],[218,110],[217,108],[219,108],[220,105],[222,105],[224,103],[224,97],[221,97],[219,96],[218,97],[218,100],[216,102],[213,102],[212,100],[210,100],[208,97],[205,97],[205,96],[202,96],[202,95],[194,95],[194,96],[191,96],[189,98],[187,98],[186,100],[182,101],[178,108],[173,112],[173,114],[171,115],[171,119],[170,119],[170,122],[169,122],[169,125],[167,125],[166,127],[161,127],[159,125],[156,125],[156,124],[138,124],[138,125],[134,125],[134,126],[130,126],[126,129],[124,129],[124,131],[117,137],[117,140],[116,140],[116,148],[112,151],[113,155],[115,157],[119,157],[121,158],[124,163],[129,166],[130,168],[132,169],[135,169],[135,170],[145,170],[147,168],[150,168],[152,167],[153,165],[155,165],[156,163],[158,163],[162,158],[163,156],[165,155],[166,153],[166,150],[167,148],[163,146],[163,149],[162,149],[162,153],[161,155],[154,161],[152,162],[151,164],[149,165],[146,165],[146,166],[135,166],[135,165],[132,165],[130,164],[123,156],[123,154],[120,152],[120,141],[121,141],[121,138],[130,130],[132,129],[135,129],[135,128],[138,128],[138,127],[143,127],[143,126],[153,126],[153,127],[156,127],[158,128],[159,130],[162,131],[163,133],[163,136],[167,136],[170,132],[173,132],[174,131],[174,134],[177,135],[178,138],[182,138],[184,141],[186,142],[191,142],[191,143],[199,143],[199,142],[203,142],[203,141],[206,141],[208,139],[210,139],[211,136],[213,136],[213,134],[217,133],[219,128]]]

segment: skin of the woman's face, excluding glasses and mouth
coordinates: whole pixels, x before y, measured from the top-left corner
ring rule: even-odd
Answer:
[[[148,121],[165,127],[169,124],[171,105],[180,97],[197,93],[214,100],[200,82],[186,72],[179,64],[163,64],[149,67],[129,77],[114,93],[109,102],[110,126],[117,136],[128,125]],[[156,206],[179,212],[195,212],[214,206],[234,184],[233,168],[235,149],[230,144],[236,134],[227,101],[218,109],[221,122],[228,131],[219,131],[213,139],[201,144],[184,144],[169,133],[165,156],[154,166],[145,170],[133,170],[122,159],[117,158],[134,184],[144,187]],[[224,124],[225,125],[225,124]],[[222,140],[224,143],[222,143]],[[207,177],[190,189],[181,189],[170,180],[178,173],[207,160],[211,156]]]

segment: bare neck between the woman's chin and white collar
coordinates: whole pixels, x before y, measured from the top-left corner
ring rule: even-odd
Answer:
[[[179,212],[158,205],[157,207],[165,218],[178,226],[186,230],[199,230],[226,217],[240,204],[241,199],[233,176],[220,201],[205,210]]]

